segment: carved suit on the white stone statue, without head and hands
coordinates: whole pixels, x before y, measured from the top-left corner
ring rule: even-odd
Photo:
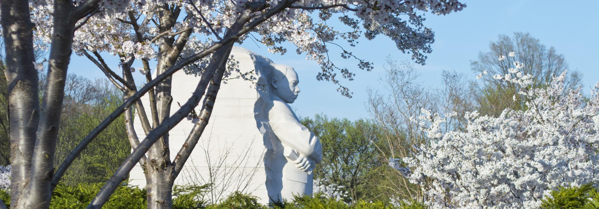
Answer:
[[[268,196],[271,200],[282,200],[291,199],[293,195],[311,195],[313,175],[299,170],[294,159],[285,156],[285,150],[287,153],[292,150],[318,163],[322,159],[322,145],[299,122],[289,105],[275,100],[269,106],[270,108],[265,109],[268,111],[268,122],[264,124]]]

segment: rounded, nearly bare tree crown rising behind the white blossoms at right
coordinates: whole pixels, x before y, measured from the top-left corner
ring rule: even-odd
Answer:
[[[513,37],[501,34],[497,41],[489,43],[488,52],[479,52],[478,59],[471,61],[473,72],[482,76],[480,84],[473,85],[473,94],[476,95],[477,109],[482,115],[498,116],[501,111],[510,109],[524,109],[524,102],[518,95],[518,87],[509,82],[494,79],[494,75],[510,73],[514,62],[524,64],[522,73],[533,75],[531,88],[547,85],[552,76],[559,76],[569,70],[565,82],[565,89],[577,88],[580,85],[580,73],[568,69],[563,54],[555,48],[547,47],[530,33],[515,32]]]

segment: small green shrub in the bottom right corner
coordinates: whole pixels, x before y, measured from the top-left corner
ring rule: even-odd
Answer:
[[[550,192],[551,196],[541,199],[541,208],[568,209],[568,208],[599,208],[599,193],[594,187],[595,183],[586,183],[580,187],[565,188],[560,186]]]

